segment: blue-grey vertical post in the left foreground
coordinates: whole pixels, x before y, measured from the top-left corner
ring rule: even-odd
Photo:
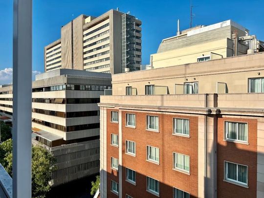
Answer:
[[[13,20],[13,198],[31,198],[32,0]]]

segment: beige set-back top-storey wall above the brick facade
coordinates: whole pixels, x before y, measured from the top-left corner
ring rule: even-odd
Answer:
[[[126,87],[145,94],[145,85],[167,86],[198,82],[198,93],[217,93],[217,83],[226,83],[228,93],[247,93],[248,78],[264,77],[264,53],[230,57],[201,63],[170,66],[112,75],[113,95],[125,95]]]

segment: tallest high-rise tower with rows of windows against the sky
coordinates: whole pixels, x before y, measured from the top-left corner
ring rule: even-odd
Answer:
[[[116,10],[99,17],[80,15],[61,28],[61,39],[44,47],[44,70],[140,70],[140,25],[134,16]]]

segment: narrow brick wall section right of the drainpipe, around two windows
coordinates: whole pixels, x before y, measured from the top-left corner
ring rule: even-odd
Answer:
[[[248,123],[248,145],[224,141],[224,121]],[[218,198],[255,198],[257,186],[257,120],[218,119]],[[224,160],[248,166],[248,188],[223,181]]]

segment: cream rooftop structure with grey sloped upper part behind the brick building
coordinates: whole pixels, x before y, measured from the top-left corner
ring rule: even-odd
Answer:
[[[177,66],[264,51],[264,42],[231,20],[177,32],[151,55],[152,68]]]

